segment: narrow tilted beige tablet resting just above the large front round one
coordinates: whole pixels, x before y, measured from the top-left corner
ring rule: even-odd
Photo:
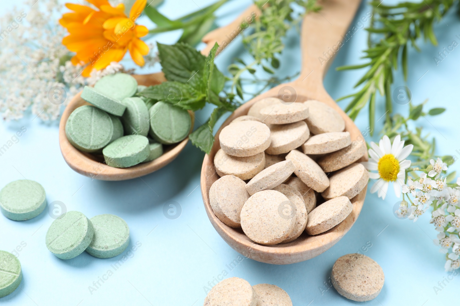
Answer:
[[[257,173],[246,185],[246,190],[250,195],[265,189],[272,189],[287,178],[294,171],[292,161],[282,161],[270,166]]]

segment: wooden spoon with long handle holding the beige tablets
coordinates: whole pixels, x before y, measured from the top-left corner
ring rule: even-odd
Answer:
[[[300,77],[293,82],[278,85],[240,106],[219,129],[213,149],[209,155],[204,157],[201,168],[201,194],[209,220],[225,242],[244,256],[271,264],[289,264],[308,260],[320,255],[337,243],[355,223],[361,211],[366,196],[366,188],[351,199],[353,211],[334,228],[316,236],[309,236],[304,232],[298,239],[287,244],[265,246],[254,243],[243,233],[241,228],[230,228],[222,223],[209,204],[209,189],[219,178],[213,164],[214,155],[220,148],[219,133],[233,119],[246,115],[253,103],[262,98],[290,94],[296,102],[303,102],[308,99],[322,101],[333,107],[344,118],[345,131],[350,132],[352,141],[363,142],[357,126],[328,95],[322,82],[327,68],[332,62],[332,58],[327,60],[323,52],[329,53],[329,57],[331,57],[334,51],[338,51],[339,42],[348,29],[359,3],[360,0],[327,0],[321,3],[322,9],[319,12],[307,14],[302,24],[301,49],[303,55]],[[334,46],[337,46],[335,50]],[[329,51],[329,48],[333,51]],[[322,62],[319,57],[327,61]],[[367,156],[363,156],[362,160],[367,160]]]

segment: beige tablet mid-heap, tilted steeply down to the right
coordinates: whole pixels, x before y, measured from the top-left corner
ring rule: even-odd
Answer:
[[[323,192],[329,187],[329,179],[322,171],[321,167],[310,157],[298,150],[292,150],[286,156],[286,160],[291,160],[294,164],[294,174],[307,186],[317,192]]]

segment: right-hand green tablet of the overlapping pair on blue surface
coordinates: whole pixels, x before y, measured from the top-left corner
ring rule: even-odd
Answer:
[[[129,244],[129,227],[115,215],[98,215],[90,219],[94,236],[86,252],[98,258],[120,255]]]

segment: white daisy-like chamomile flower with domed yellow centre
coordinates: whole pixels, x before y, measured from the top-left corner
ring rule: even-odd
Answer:
[[[395,195],[399,198],[401,186],[404,184],[405,170],[410,167],[410,161],[405,158],[412,152],[414,145],[404,147],[404,141],[401,141],[400,135],[395,137],[392,145],[386,135],[380,139],[379,145],[373,141],[370,145],[369,156],[371,158],[362,164],[369,170],[369,178],[377,179],[371,188],[371,193],[378,191],[377,195],[385,200],[388,185],[393,183]],[[378,172],[370,172],[373,170]]]

